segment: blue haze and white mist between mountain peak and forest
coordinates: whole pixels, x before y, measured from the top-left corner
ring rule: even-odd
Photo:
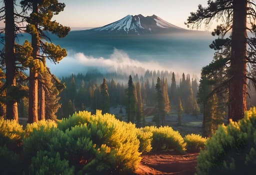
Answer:
[[[208,32],[184,35],[91,36],[86,30],[71,31],[53,42],[67,49],[59,64],[47,64],[57,76],[86,73],[88,68],[144,74],[145,70],[186,72],[199,76],[201,68],[212,59]],[[85,33],[85,34],[84,34]]]

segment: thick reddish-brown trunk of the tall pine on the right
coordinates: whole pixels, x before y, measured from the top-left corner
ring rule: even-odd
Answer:
[[[228,96],[228,119],[243,118],[246,110],[246,10],[247,0],[233,0],[233,25]]]

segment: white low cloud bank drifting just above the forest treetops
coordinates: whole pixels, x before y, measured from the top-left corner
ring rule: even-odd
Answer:
[[[94,57],[83,52],[68,50],[67,57],[63,58],[57,65],[48,63],[51,71],[57,76],[68,76],[71,73],[86,73],[89,69],[97,69],[100,72],[118,72],[120,74],[144,75],[146,70],[174,71],[175,73],[190,73],[199,76],[192,65],[184,66],[179,60],[166,63],[168,60],[159,63],[157,60],[138,60],[130,58],[129,55],[120,49],[113,49],[113,53],[106,57]],[[191,69],[189,69],[189,67]]]

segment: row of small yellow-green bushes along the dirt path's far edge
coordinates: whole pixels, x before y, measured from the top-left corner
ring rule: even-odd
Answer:
[[[139,151],[148,152],[172,150],[176,153],[199,152],[205,148],[206,138],[196,134],[188,134],[184,138],[178,131],[169,126],[145,126],[137,128],[137,137],[140,141]]]

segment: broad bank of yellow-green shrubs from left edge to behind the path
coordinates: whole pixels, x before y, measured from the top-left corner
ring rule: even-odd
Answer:
[[[16,121],[0,118],[0,172],[129,174],[138,165],[141,153],[183,153],[194,137],[184,140],[169,126],[136,128],[135,124],[101,114],[100,110],[96,114],[74,113],[58,121],[40,120],[24,129]]]

